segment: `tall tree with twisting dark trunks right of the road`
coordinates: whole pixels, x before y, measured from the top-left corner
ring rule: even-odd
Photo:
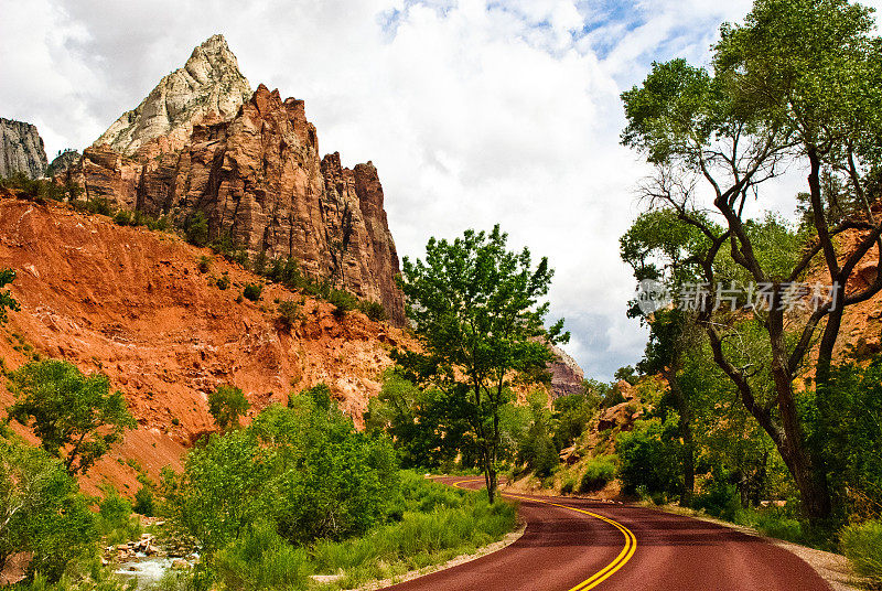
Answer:
[[[768,310],[754,310],[765,331],[771,388],[752,379],[755,365],[740,364],[744,352],[730,346],[736,319],[721,323],[708,305],[699,310],[698,322],[716,363],[775,442],[804,512],[815,522],[829,516],[830,493],[821,460],[806,444],[793,382],[818,333],[817,377],[821,383],[829,377],[843,310],[882,289],[880,273],[872,284],[845,292],[870,250],[882,249],[882,224],[869,208],[882,129],[880,41],[872,29],[871,12],[847,0],[756,0],[744,24],[723,25],[713,74],[684,60],[654,64],[645,82],[622,96],[628,121],[623,143],[656,165],[655,179],[643,187],[650,205],[671,209],[711,245],[709,256],[697,261],[701,279],[717,283],[719,256],[731,261],[722,268],[734,266],[751,281],[772,286]],[[762,248],[756,229],[770,221],[751,224],[744,206],[752,196],[762,198],[765,184],[790,162],[809,170],[814,232],[797,237],[802,249]],[[863,195],[860,216],[828,224],[822,170]],[[710,191],[724,228],[698,213],[699,182]],[[862,234],[857,248],[840,259],[835,237],[847,229]],[[806,318],[794,318],[781,303],[817,258],[833,292]]]

